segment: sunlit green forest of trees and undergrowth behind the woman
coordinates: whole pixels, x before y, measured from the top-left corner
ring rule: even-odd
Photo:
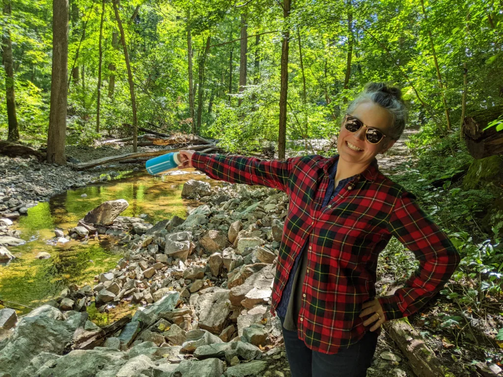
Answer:
[[[81,162],[77,148],[99,158],[95,148],[127,140],[137,152],[155,135],[228,154],[330,156],[368,82],[402,88],[406,137],[386,173],[462,258],[440,297],[407,323],[436,349],[442,375],[500,375],[502,0],[2,3],[0,153],[15,146],[67,176]],[[17,171],[11,162],[0,183]],[[381,272],[400,280],[415,268],[409,259],[392,241]]]

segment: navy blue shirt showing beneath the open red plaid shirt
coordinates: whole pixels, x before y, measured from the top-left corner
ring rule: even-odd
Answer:
[[[330,202],[333,198],[335,198],[336,195],[339,194],[339,192],[342,190],[342,188],[346,185],[346,183],[348,183],[354,177],[354,175],[353,175],[351,177],[340,180],[339,184],[334,189],[333,186],[334,186],[334,182],[336,180],[335,178],[336,178],[336,173],[337,173],[338,161],[339,161],[339,159],[336,160],[336,162],[334,162],[334,164],[330,167],[329,175],[328,175],[328,178],[329,178],[328,187],[326,189],[325,197],[323,198],[323,203],[321,205],[321,208],[325,207],[328,204],[328,202]],[[304,244],[304,246],[302,247],[302,250],[300,251],[299,255],[297,255],[297,257],[295,258],[295,261],[292,266],[292,270],[290,271],[290,275],[288,276],[288,281],[287,281],[287,284],[286,284],[285,289],[283,291],[283,295],[281,296],[280,303],[278,304],[278,307],[276,308],[276,313],[280,317],[286,317],[286,312],[288,309],[288,302],[290,301],[290,296],[292,295],[293,278],[295,276],[295,271],[297,271],[297,267],[299,266],[299,261],[301,259],[302,253],[305,252],[308,243],[309,243],[309,238],[306,241],[306,243]],[[299,284],[302,284],[302,281],[299,281]]]

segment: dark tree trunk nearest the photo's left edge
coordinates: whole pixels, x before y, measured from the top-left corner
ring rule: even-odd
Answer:
[[[16,93],[14,89],[14,67],[12,58],[12,40],[9,22],[12,13],[11,0],[4,0],[4,15],[7,23],[4,29],[3,49],[5,67],[5,91],[7,102],[7,118],[9,122],[9,136],[7,140],[16,142],[19,140],[18,117],[16,115]]]

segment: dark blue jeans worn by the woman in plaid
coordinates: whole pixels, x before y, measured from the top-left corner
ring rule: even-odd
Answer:
[[[297,331],[286,330],[283,327],[285,319],[279,318],[292,377],[366,377],[379,336],[375,331],[368,331],[349,348],[329,355],[307,348],[297,337]]]

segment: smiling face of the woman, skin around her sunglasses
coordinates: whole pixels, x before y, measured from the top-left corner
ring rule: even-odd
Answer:
[[[374,104],[373,102],[363,102],[353,110],[350,114],[358,118],[366,126],[374,127],[382,133],[389,135],[391,124],[391,116],[388,111]],[[340,158],[347,162],[357,164],[370,164],[378,153],[386,152],[395,143],[395,140],[385,136],[378,144],[369,143],[365,139],[366,127],[361,127],[357,132],[349,132],[346,127],[341,127],[341,134],[337,141],[337,150]],[[360,148],[360,151],[355,151],[348,146]]]

